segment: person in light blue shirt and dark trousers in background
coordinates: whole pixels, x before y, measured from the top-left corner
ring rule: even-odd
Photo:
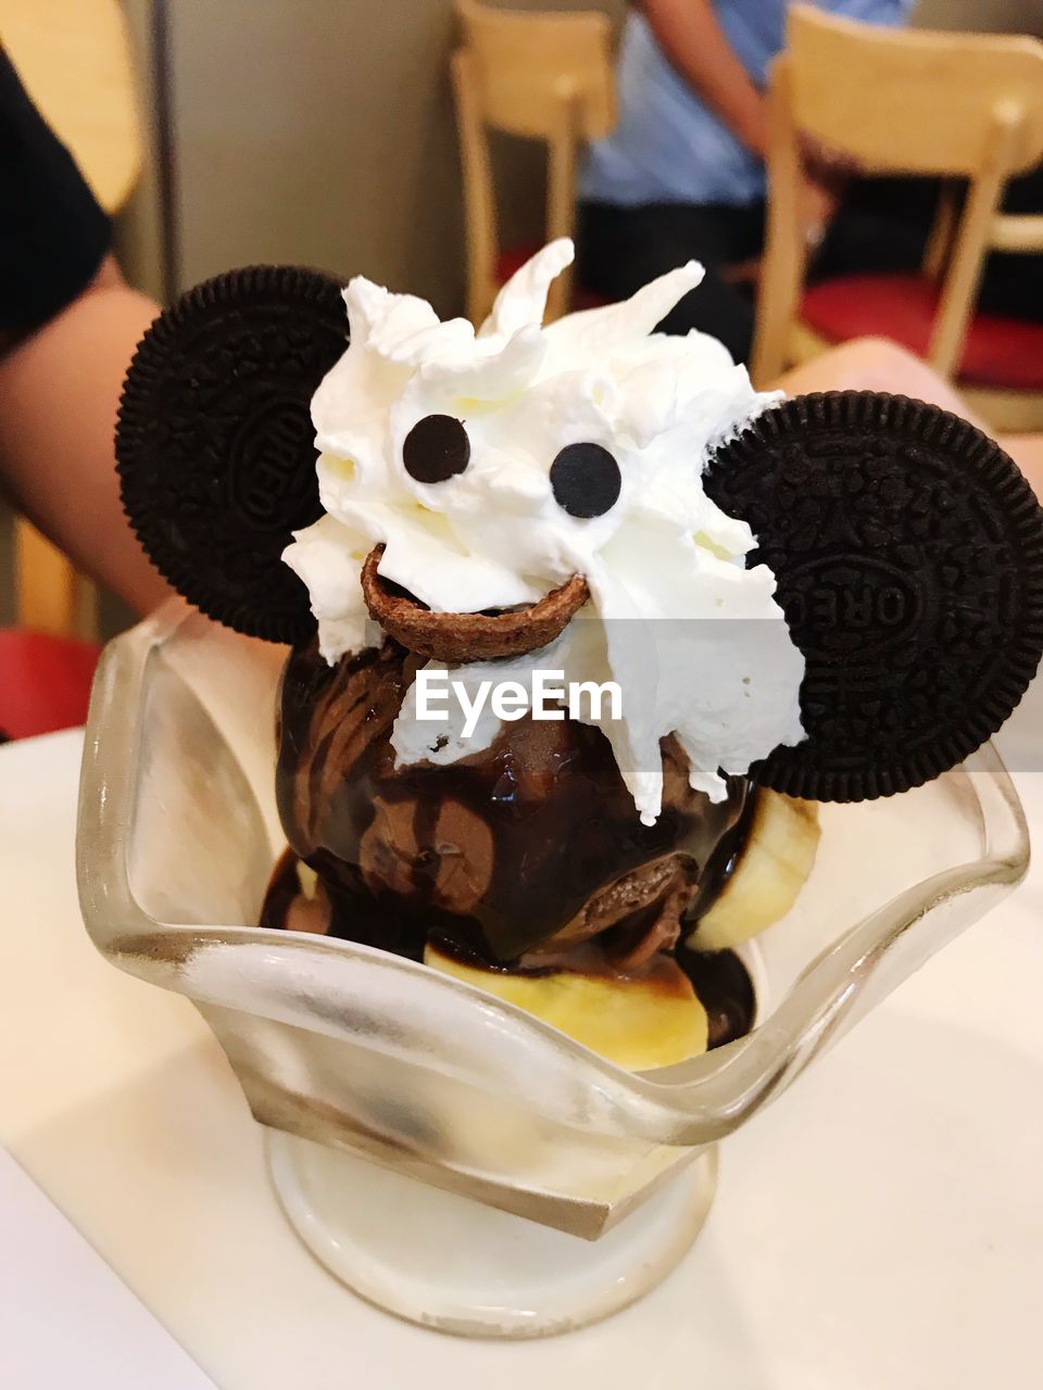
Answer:
[[[763,245],[765,82],[786,42],[787,8],[787,0],[637,0],[619,56],[619,125],[591,146],[580,181],[580,284],[626,299],[700,260],[705,281],[663,328],[701,328],[737,361],[750,360],[754,303],[727,271]],[[912,0],[820,0],[820,8],[898,25]],[[829,220],[839,171],[825,152],[807,156],[814,229]]]

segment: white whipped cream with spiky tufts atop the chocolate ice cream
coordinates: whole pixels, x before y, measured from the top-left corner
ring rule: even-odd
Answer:
[[[745,567],[750,527],[701,482],[711,450],[780,398],[755,392],[716,339],[654,332],[700,284],[694,261],[624,303],[544,327],[548,288],[572,257],[569,240],[544,247],[477,332],[463,318],[439,321],[412,295],[350,281],[350,346],[312,402],[325,516],[295,534],[284,559],[307,585],[331,663],[382,641],[360,585],[377,543],[380,573],[438,613],[533,603],[585,575],[590,603],[553,651],[522,666],[619,682],[622,719],[598,724],[651,824],[665,735],[677,735],[693,787],[712,799],[725,795],[722,773],[802,738],[804,659],[775,577]],[[470,461],[446,481],[419,482],[403,442],[431,414],[463,421]],[[581,442],[608,449],[622,475],[616,503],[591,518],[565,512],[551,486],[558,453]],[[471,674],[491,669],[505,678],[519,663]],[[445,730],[414,713],[407,699],[394,737],[401,762],[456,759],[496,734],[485,720],[477,742],[438,738]]]

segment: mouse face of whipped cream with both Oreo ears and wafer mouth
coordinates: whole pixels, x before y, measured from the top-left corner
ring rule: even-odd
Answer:
[[[712,339],[656,334],[695,265],[544,327],[570,256],[535,256],[477,332],[362,278],[193,291],[146,335],[117,439],[163,573],[243,631],[317,626],[330,663],[391,635],[464,682],[503,660],[615,681],[622,717],[591,721],[645,826],[670,737],[711,799],[747,771],[887,795],[978,746],[1043,648],[1011,460],[903,398],[780,403]],[[414,705],[398,759],[466,756]]]

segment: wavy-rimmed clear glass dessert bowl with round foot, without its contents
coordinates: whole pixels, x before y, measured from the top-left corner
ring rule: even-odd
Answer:
[[[282,656],[178,605],[110,645],[81,784],[83,916],[114,965],[200,1009],[312,1251],[427,1326],[540,1336],[654,1287],[705,1219],[719,1141],[1028,867],[990,745],[903,795],[823,805],[794,908],[740,948],[752,1030],[626,1072],[414,960],[252,926],[284,847]]]

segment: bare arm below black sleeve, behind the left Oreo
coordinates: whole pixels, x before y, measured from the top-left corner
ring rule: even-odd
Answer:
[[[124,516],[113,436],[124,373],[157,313],[106,257],[72,303],[0,356],[0,491],[139,613],[171,591]]]

